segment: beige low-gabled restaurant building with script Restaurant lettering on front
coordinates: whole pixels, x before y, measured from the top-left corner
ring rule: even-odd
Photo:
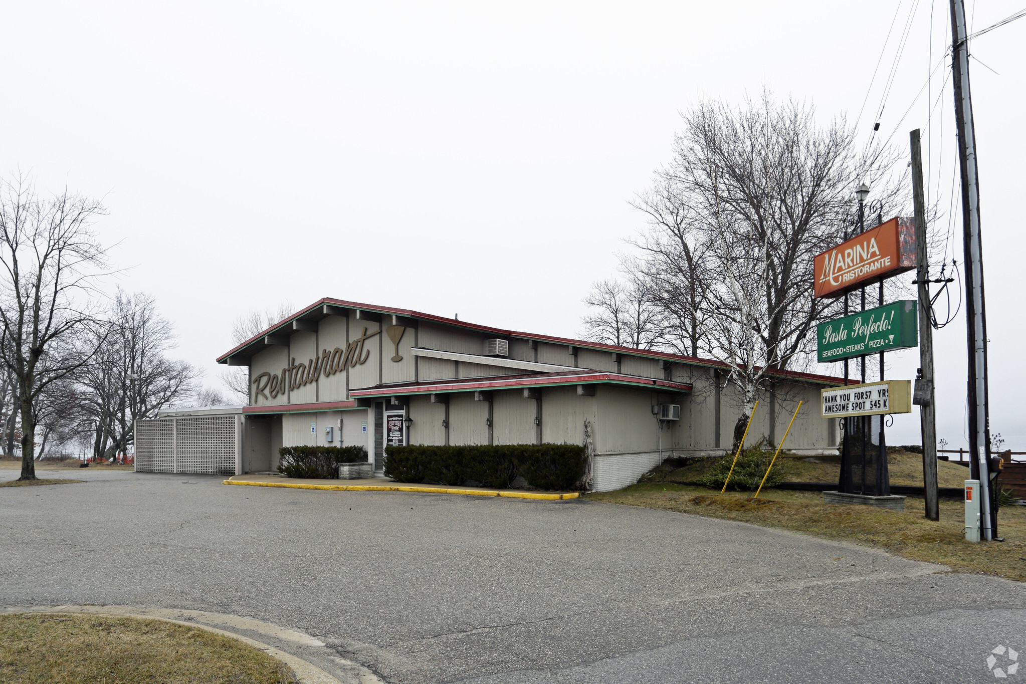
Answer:
[[[718,361],[332,298],[218,362],[248,368],[248,405],[164,413],[183,423],[161,434],[208,416],[228,435],[235,420],[239,473],[274,471],[281,446],[359,444],[381,471],[389,444],[588,441],[593,489],[608,491],[670,456],[724,453],[741,412]],[[794,372],[773,379],[748,443],[775,443],[804,400],[787,448],[836,453],[837,421],[820,417],[819,393],[842,380]]]

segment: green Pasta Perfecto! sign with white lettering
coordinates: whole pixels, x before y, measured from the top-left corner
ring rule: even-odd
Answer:
[[[919,327],[915,299],[894,301],[820,323],[816,334],[820,363],[916,347]]]

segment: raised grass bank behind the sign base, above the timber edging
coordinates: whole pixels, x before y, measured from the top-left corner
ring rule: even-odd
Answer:
[[[657,470],[645,482],[697,482],[713,464],[713,458],[702,458],[674,471]],[[837,482],[840,475],[840,456],[795,456],[782,453],[774,470],[784,476],[784,482]],[[887,472],[891,484],[922,486],[922,454],[897,451],[887,454]],[[961,489],[969,479],[969,469],[963,466],[937,461],[937,484],[941,487]],[[761,498],[761,495],[759,496]]]

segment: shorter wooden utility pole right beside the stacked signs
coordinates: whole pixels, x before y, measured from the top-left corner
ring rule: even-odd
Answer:
[[[912,203],[915,207],[915,282],[919,289],[919,374],[912,402],[919,405],[922,429],[922,489],[926,517],[940,520],[937,504],[937,418],[934,407],[934,326],[930,320],[930,260],[926,255],[926,201],[922,192],[922,151],[919,129],[909,133],[912,150]],[[882,355],[881,355],[882,356]]]

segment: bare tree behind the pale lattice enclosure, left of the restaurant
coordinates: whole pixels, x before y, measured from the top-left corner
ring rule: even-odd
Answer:
[[[196,396],[200,373],[185,361],[168,358],[174,328],[157,311],[153,296],[115,292],[112,330],[78,380],[85,389],[93,426],[93,456],[111,458],[133,441],[137,419]]]

